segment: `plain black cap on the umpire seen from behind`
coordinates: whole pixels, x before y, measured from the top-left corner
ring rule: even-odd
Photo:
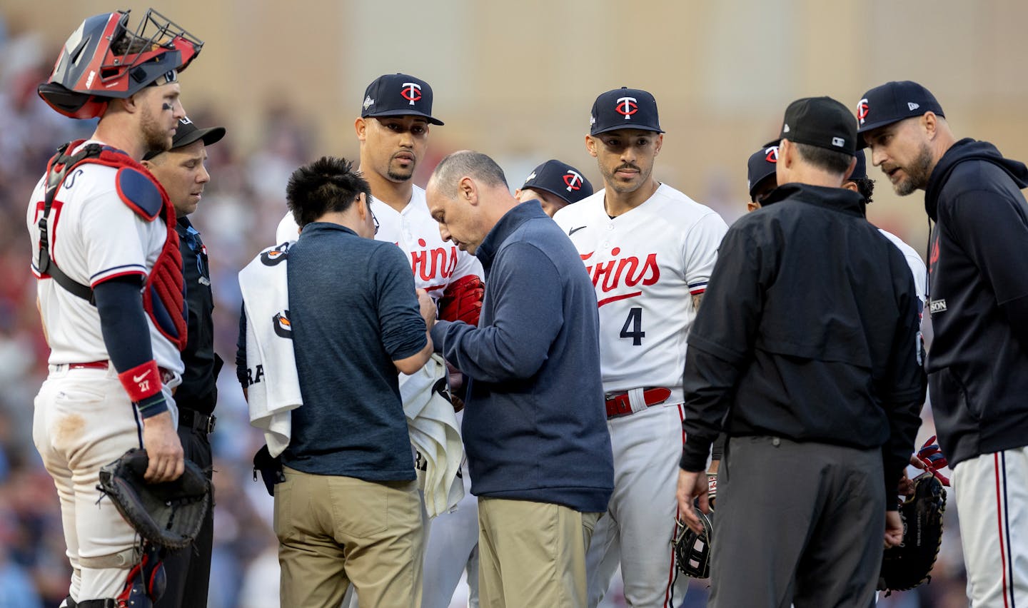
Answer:
[[[854,156],[856,120],[846,106],[832,98],[803,98],[785,108],[779,139]]]

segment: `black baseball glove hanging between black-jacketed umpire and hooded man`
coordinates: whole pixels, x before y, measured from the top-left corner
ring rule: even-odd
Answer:
[[[914,495],[900,505],[903,542],[885,549],[878,588],[907,591],[931,579],[931,567],[943,541],[946,489],[932,473],[914,478]]]

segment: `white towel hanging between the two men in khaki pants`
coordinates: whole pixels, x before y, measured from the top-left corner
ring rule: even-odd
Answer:
[[[407,416],[410,443],[417,450],[417,483],[425,493],[425,509],[430,518],[452,510],[464,498],[461,462],[464,444],[453,405],[436,388],[446,386],[446,364],[433,354],[416,373],[400,375],[400,397]],[[439,384],[439,383],[442,384]]]

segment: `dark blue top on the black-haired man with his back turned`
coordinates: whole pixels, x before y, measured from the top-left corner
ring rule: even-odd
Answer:
[[[291,413],[282,462],[370,482],[415,479],[393,363],[427,341],[406,256],[315,222],[290,248],[287,273],[303,406]]]

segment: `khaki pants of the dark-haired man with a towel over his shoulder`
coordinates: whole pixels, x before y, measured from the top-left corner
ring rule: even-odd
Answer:
[[[420,606],[416,482],[285,473],[274,487],[283,606],[337,608],[351,583],[362,607]]]

